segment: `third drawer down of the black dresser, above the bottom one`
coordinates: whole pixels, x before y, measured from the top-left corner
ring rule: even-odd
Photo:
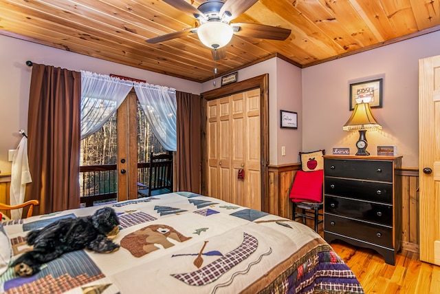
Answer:
[[[325,212],[393,226],[393,207],[347,198],[325,196]]]

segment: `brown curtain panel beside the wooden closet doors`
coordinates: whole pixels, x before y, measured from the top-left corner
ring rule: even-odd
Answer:
[[[200,193],[200,96],[176,92],[177,191]]]

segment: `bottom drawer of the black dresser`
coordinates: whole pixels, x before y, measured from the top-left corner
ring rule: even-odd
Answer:
[[[325,213],[325,231],[393,248],[393,229]]]

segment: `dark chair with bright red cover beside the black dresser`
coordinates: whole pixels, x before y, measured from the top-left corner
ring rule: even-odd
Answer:
[[[324,182],[324,171],[296,171],[296,175],[289,191],[289,199],[293,204],[292,220],[303,218],[314,220],[315,231],[318,232],[318,224],[323,222],[322,185]],[[297,208],[301,212],[297,211]],[[320,218],[321,217],[321,218]]]

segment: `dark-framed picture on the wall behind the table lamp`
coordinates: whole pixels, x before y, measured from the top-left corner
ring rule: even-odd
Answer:
[[[350,84],[350,110],[355,109],[356,103],[369,101],[371,108],[382,108],[383,78]]]

